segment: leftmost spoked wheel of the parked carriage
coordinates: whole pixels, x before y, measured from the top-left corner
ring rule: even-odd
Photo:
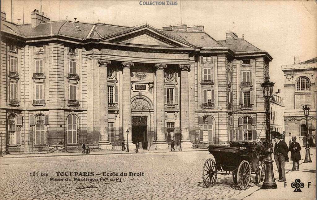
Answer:
[[[203,167],[203,180],[207,187],[212,187],[217,180],[217,168],[213,159],[206,160]]]

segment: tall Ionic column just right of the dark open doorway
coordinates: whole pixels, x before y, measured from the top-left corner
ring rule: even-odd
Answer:
[[[165,102],[164,102],[164,68],[166,64],[156,64],[156,105],[155,105],[155,116],[156,116],[156,141],[154,146],[156,150],[168,149],[168,144],[165,140]],[[175,141],[176,143],[176,141]]]

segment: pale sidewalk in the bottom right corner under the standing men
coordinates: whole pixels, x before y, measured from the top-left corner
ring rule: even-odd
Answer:
[[[288,154],[290,157],[290,152]],[[247,189],[240,195],[232,198],[235,200],[243,199],[243,200],[255,200],[269,197],[269,199],[316,199],[316,148],[310,148],[310,157],[311,163],[303,163],[305,159],[305,148],[302,147],[301,150],[301,158],[300,160],[300,171],[290,171],[293,166],[293,161],[289,161],[285,163],[285,175],[286,182],[284,186],[284,182],[278,182],[278,171],[275,162],[273,162],[273,171],[274,177],[277,184],[277,189],[271,190],[262,190],[262,183],[258,184],[250,189]],[[274,159],[273,159],[274,160]],[[291,187],[291,184],[295,182],[295,179],[299,178],[301,183],[304,183],[304,187],[301,188],[302,192],[294,192],[295,188]],[[311,182],[308,188],[308,182]]]

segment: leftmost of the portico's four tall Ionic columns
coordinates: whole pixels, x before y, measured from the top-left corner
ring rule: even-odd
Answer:
[[[108,74],[107,67],[111,61],[100,59],[99,64],[99,132],[101,140],[99,145],[102,150],[112,150],[108,141]]]

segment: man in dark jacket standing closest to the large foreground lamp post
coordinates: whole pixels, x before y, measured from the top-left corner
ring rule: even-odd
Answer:
[[[288,147],[284,140],[280,140],[278,136],[275,136],[274,145],[274,160],[277,166],[279,174],[279,182],[285,182],[285,155],[288,153]]]

